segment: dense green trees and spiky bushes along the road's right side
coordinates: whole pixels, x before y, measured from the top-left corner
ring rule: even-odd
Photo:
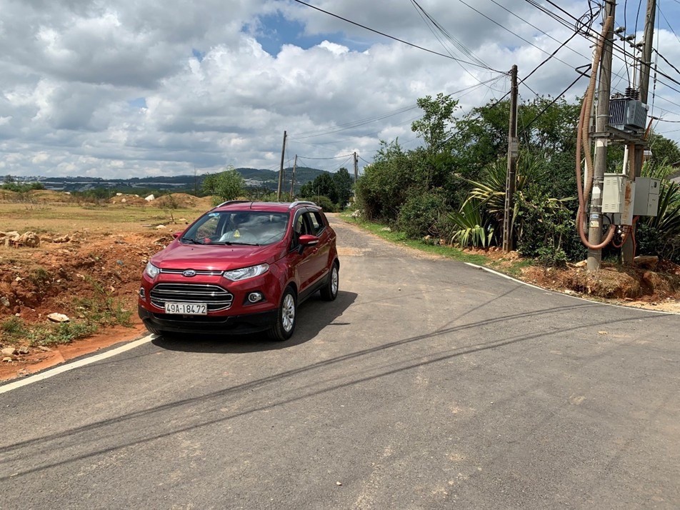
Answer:
[[[411,129],[423,141],[404,150],[381,141],[374,163],[356,184],[361,218],[389,226],[408,239],[436,239],[461,249],[502,244],[509,101],[456,116],[458,104],[439,94],[419,99],[423,116]],[[581,261],[576,234],[576,124],[579,102],[537,98],[519,109],[520,156],[512,234],[519,255],[544,266]],[[680,161],[674,141],[651,134],[643,174],[661,179],[659,215],[639,221],[637,254],[680,262],[680,186],[669,180]],[[623,151],[609,151],[608,171],[621,173]],[[621,241],[617,234],[615,241]],[[604,250],[618,261],[614,246]]]

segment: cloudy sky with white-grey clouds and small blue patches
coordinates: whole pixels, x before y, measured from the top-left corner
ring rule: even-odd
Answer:
[[[381,139],[418,146],[417,99],[453,94],[462,115],[504,96],[512,64],[523,78],[560,48],[573,29],[534,4],[571,26],[569,15],[597,8],[571,0],[553,2],[564,11],[544,0],[309,4],[318,9],[295,0],[0,0],[0,175],[274,170],[284,131],[286,166],[297,154],[303,166],[351,169],[356,151],[361,167]],[[637,27],[638,40],[645,4],[619,0],[616,26],[631,35]],[[669,121],[680,121],[672,81],[680,82],[680,1],[659,0],[656,26],[655,46],[670,62],[659,58],[659,69],[671,79],[657,81],[654,116],[664,121],[655,127],[677,140],[680,124]],[[571,39],[521,86],[521,99],[560,94],[590,55],[589,41]],[[623,91],[632,73],[617,53],[614,88]],[[585,87],[581,79],[567,97]]]

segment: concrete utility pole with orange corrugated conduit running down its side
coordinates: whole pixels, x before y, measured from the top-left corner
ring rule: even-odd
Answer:
[[[616,1],[606,2],[604,19],[609,16],[614,18]],[[611,95],[611,56],[614,47],[614,29],[610,27],[606,35],[604,46],[602,47],[602,57],[600,63],[600,78],[597,89],[597,113],[595,117],[595,132],[599,136],[595,139],[595,161],[593,168],[593,191],[590,198],[590,216],[588,230],[588,242],[592,245],[600,244],[602,241],[602,184],[604,183],[604,172],[607,167],[607,144],[606,136],[609,126],[609,96]],[[589,150],[586,148],[586,150]],[[588,271],[600,269],[602,261],[601,249],[588,249]]]

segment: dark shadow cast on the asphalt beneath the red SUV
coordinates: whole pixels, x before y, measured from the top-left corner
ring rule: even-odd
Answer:
[[[215,354],[248,353],[287,349],[304,344],[332,326],[334,321],[356,301],[354,292],[339,291],[335,301],[324,301],[319,294],[311,296],[298,307],[293,337],[287,341],[272,341],[266,332],[243,335],[170,334],[156,336],[151,343],[169,351],[209,352]],[[338,323],[335,323],[338,324]]]

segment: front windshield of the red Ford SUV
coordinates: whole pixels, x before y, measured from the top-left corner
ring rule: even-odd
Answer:
[[[186,244],[271,244],[286,234],[288,214],[268,211],[211,211],[181,237]]]

